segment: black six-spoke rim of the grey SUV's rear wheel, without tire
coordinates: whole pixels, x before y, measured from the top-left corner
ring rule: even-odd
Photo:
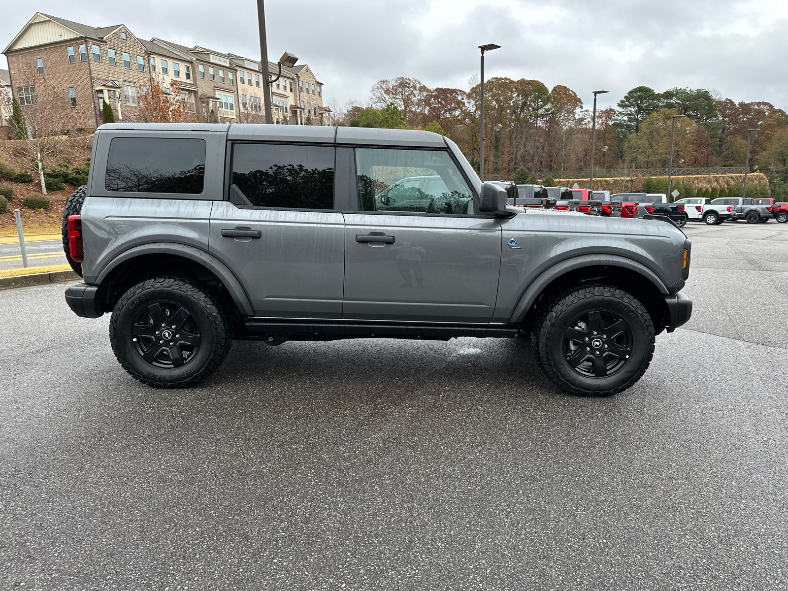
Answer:
[[[143,360],[166,369],[190,362],[200,344],[198,325],[189,310],[171,302],[151,303],[140,310],[131,333]]]

